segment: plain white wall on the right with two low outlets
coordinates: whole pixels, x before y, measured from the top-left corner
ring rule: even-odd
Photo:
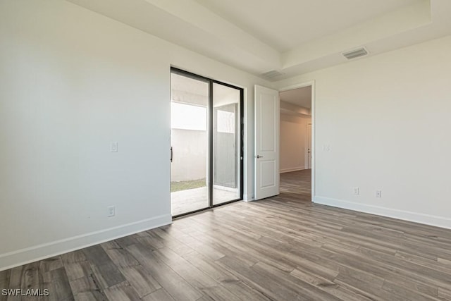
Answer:
[[[278,86],[309,80],[315,202],[451,228],[451,36]]]

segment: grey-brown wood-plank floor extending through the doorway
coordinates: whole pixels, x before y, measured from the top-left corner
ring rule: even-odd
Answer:
[[[0,272],[0,289],[48,288],[43,300],[58,301],[451,300],[451,231],[311,204],[309,176],[284,173],[277,197]]]

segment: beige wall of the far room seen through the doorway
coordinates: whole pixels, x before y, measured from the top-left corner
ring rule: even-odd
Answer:
[[[299,171],[306,166],[307,123],[310,118],[280,114],[280,172]]]

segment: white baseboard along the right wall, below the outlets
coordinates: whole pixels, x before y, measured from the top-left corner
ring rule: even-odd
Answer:
[[[424,223],[430,226],[451,229],[451,219],[443,216],[433,216],[429,214],[421,214],[400,209],[391,209],[379,207],[369,204],[361,204],[357,202],[344,201],[342,199],[332,199],[329,197],[315,196],[313,202],[332,207],[361,211],[369,214],[392,217],[394,219],[402,219],[404,221],[413,221],[415,223]]]

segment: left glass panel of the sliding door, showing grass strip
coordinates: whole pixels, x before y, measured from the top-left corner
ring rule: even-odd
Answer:
[[[210,206],[209,85],[171,73],[171,213]]]

